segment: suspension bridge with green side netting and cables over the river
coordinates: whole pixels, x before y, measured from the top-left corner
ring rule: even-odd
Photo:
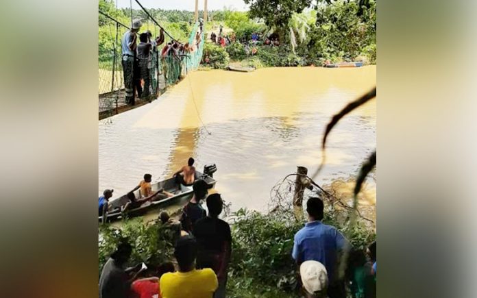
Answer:
[[[99,120],[157,99],[169,86],[177,84],[189,72],[197,70],[201,62],[204,49],[204,26],[207,21],[207,0],[204,0],[204,23],[199,22],[199,1],[195,0],[195,23],[188,34],[187,40],[175,38],[163,25],[156,21],[154,16],[140,1],[134,1],[138,5],[138,10],[143,13],[140,16],[134,16],[133,4],[132,0],[130,0],[130,23],[129,21],[121,22],[114,15],[115,12],[119,14],[117,1],[115,12],[108,13],[102,11],[101,8],[99,9],[103,29],[106,29],[106,32],[104,30],[101,32],[100,30],[99,34],[108,36],[108,49],[99,48]],[[140,28],[141,32],[149,31],[151,34],[154,34],[153,38],[158,37],[158,32],[160,32],[160,34],[164,35],[164,39],[162,44],[157,45],[157,49],[151,52],[151,95],[147,98],[136,99],[134,105],[129,105],[125,102],[125,86],[121,64],[121,38],[132,27],[133,18],[138,18],[143,23],[143,26]],[[173,55],[161,55],[162,47],[164,45],[167,46],[169,42],[179,42],[181,45],[186,45],[186,47],[182,51],[174,52]]]

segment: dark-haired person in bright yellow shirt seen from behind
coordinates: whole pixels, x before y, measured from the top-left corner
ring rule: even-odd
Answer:
[[[195,269],[197,243],[193,236],[182,236],[175,244],[174,256],[179,271],[160,277],[162,298],[212,298],[217,286],[217,275],[210,268]]]

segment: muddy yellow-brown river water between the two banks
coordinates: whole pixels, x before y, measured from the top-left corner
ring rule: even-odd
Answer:
[[[195,71],[156,101],[100,121],[99,193],[114,188],[114,197],[122,195],[145,173],[153,181],[169,177],[193,156],[199,171],[217,164],[216,190],[232,211],[265,211],[271,188],[296,166],[310,174],[317,169],[332,115],[375,85],[376,66]],[[333,180],[349,195],[375,147],[376,99],[332,130],[327,163],[315,181]],[[360,204],[374,213],[375,173]]]

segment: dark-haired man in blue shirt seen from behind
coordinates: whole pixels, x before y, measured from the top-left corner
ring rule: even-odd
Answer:
[[[323,201],[317,197],[310,197],[306,202],[308,223],[295,234],[292,257],[298,266],[308,260],[323,264],[328,273],[328,296],[345,298],[345,284],[338,278],[337,260],[349,243],[335,227],[321,223],[323,208]]]

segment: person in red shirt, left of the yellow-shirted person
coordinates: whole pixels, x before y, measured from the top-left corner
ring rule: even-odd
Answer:
[[[159,279],[162,274],[174,272],[171,262],[161,264],[156,270],[150,268],[145,271],[148,278],[136,280],[131,285],[131,298],[161,298]]]

